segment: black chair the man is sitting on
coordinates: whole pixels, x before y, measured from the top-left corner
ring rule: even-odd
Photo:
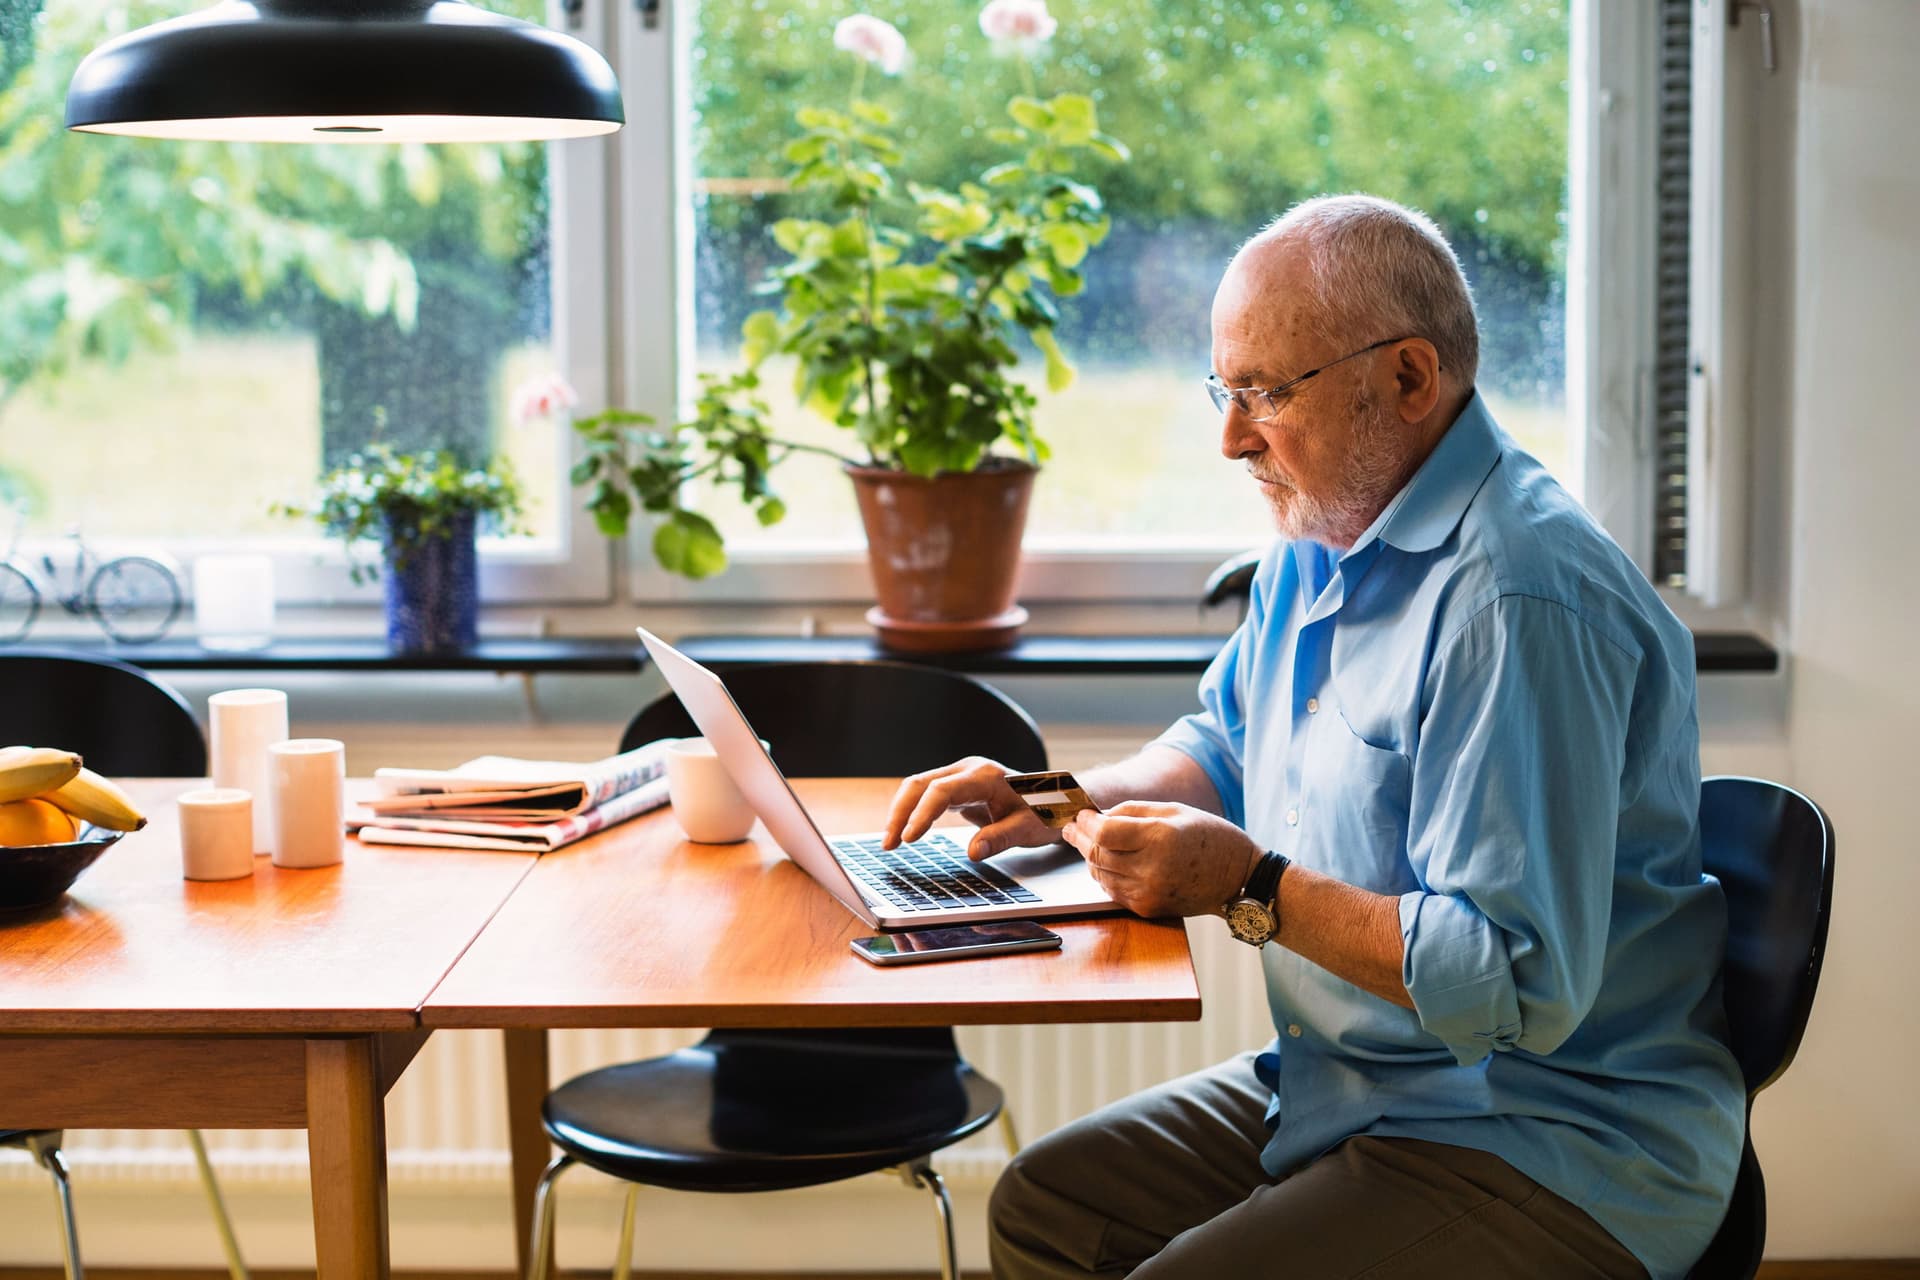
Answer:
[[[1834,823],[1757,777],[1699,789],[1701,860],[1726,892],[1726,1021],[1747,1080],[1747,1142],[1734,1199],[1693,1280],[1751,1280],[1766,1245],[1766,1182],[1753,1153],[1753,1098],[1786,1073],[1807,1031],[1834,902]]]

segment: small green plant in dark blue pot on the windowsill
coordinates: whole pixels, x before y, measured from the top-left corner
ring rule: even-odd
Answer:
[[[513,532],[520,486],[505,459],[468,466],[453,453],[397,453],[371,443],[321,476],[311,507],[278,514],[317,520],[348,547],[353,581],[386,583],[386,643],[394,652],[444,652],[474,643],[480,604],[476,537],[482,520]],[[355,557],[380,541],[380,566]]]

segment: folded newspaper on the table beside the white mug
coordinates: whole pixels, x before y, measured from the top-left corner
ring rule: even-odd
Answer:
[[[545,852],[666,804],[666,745],[572,764],[478,756],[451,770],[376,770],[348,819],[369,844]]]

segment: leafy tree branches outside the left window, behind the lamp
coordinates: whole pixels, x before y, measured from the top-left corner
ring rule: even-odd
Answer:
[[[524,253],[545,152],[515,146],[240,146],[69,134],[67,81],[111,35],[182,0],[0,6],[0,405],[75,359],[169,347],[209,292],[263,303],[309,284],[415,324],[415,255]],[[540,6],[513,0],[492,8]]]

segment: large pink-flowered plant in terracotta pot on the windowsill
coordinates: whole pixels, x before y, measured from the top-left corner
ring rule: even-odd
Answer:
[[[1054,19],[1044,0],[993,0],[981,29],[1031,56]],[[787,182],[818,198],[820,215],[772,228],[787,261],[760,290],[780,305],[745,320],[747,367],[703,374],[693,416],[672,430],[620,409],[578,418],[586,457],[574,482],[588,486],[607,535],[645,510],[659,518],[659,562],[707,578],[726,568],[726,549],[712,520],[685,505],[687,482],[737,487],[762,524],[776,524],[785,505],[774,466],[795,451],[829,453],[858,495],[879,599],[868,618],[881,641],[1004,645],[1025,618],[1014,581],[1033,474],[1046,459],[1035,393],[1018,376],[1021,340],[1048,390],[1064,390],[1073,370],[1054,340],[1054,297],[1079,292],[1083,261],[1108,232],[1098,192],[1077,173],[1089,159],[1123,163],[1127,152],[1100,132],[1087,94],[1027,92],[991,130],[1002,163],[956,190],[906,180],[895,115],[860,96],[868,67],[902,67],[904,38],[868,15],[841,21],[833,38],[856,58],[851,106],[797,111]],[[772,434],[760,382],[776,357],[793,361],[799,399],[851,432],[851,449]]]

